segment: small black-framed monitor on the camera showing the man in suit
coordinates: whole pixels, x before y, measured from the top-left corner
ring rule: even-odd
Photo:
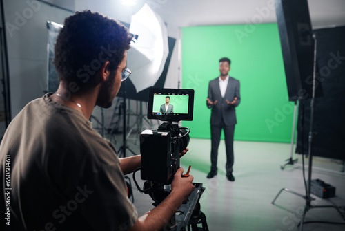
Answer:
[[[148,95],[148,118],[162,121],[193,120],[193,89],[155,89]]]

